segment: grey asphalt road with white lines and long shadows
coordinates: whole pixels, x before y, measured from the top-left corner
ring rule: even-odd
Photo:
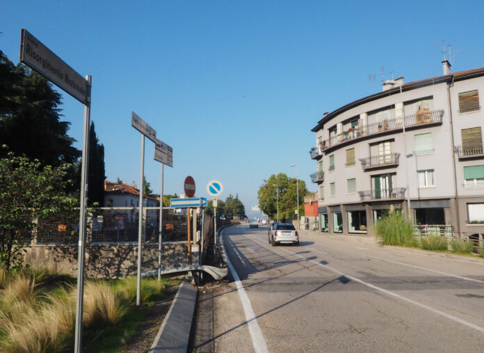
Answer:
[[[484,352],[484,261],[300,231],[222,233],[234,281],[213,291],[217,352]]]

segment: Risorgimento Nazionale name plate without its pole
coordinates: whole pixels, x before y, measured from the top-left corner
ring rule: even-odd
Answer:
[[[86,104],[86,100],[90,100],[86,79],[26,29],[22,29],[20,35],[20,61],[47,77],[79,102]]]

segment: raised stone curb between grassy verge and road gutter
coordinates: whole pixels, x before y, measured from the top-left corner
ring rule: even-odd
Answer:
[[[197,288],[186,281],[181,283],[150,352],[186,352],[196,301]]]

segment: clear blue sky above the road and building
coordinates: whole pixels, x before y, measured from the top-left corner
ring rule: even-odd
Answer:
[[[325,111],[405,82],[484,66],[484,1],[3,1],[0,49],[19,58],[26,28],[81,75],[92,75],[92,113],[106,176],[139,182],[135,111],[174,150],[165,194],[197,196],[207,182],[239,194],[245,209],[273,173],[305,180],[316,162],[310,130]],[[375,74],[373,81],[369,79]],[[63,93],[64,119],[81,148],[83,106]],[[160,164],[146,141],[145,175],[159,192]]]

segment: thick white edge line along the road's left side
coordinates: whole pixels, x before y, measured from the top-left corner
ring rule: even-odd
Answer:
[[[245,320],[247,320],[246,322],[249,327],[250,338],[252,338],[252,346],[254,347],[255,352],[261,352],[261,353],[269,352],[267,348],[266,339],[262,334],[261,328],[257,323],[257,317],[255,317],[255,313],[252,310],[252,306],[250,305],[250,299],[247,296],[247,293],[245,293],[242,282],[239,279],[239,275],[237,274],[234,267],[232,266],[232,262],[230,262],[229,256],[227,255],[227,251],[225,251],[225,246],[223,245],[223,237],[222,237],[224,230],[220,232],[220,247],[222,248],[222,251],[224,253],[225,260],[227,261],[227,266],[229,267],[230,273],[232,274],[232,277],[234,277],[237,292],[239,292],[239,298],[241,299],[243,312],[245,313]]]

